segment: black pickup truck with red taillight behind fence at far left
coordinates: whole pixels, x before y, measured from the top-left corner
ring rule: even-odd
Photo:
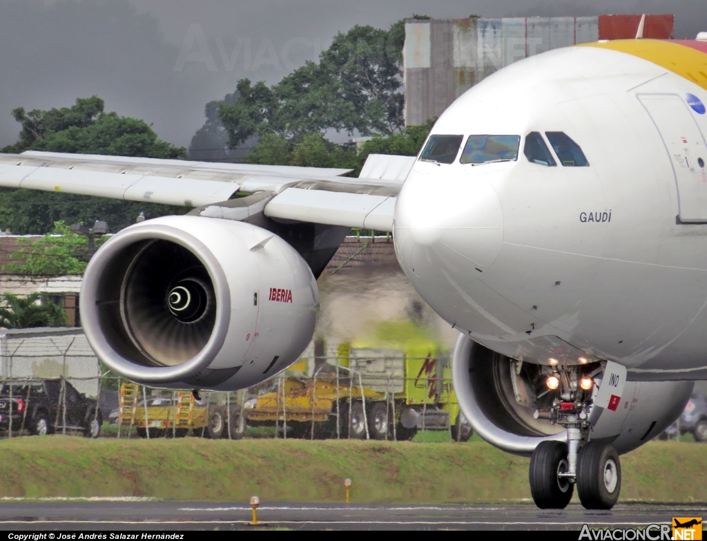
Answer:
[[[98,438],[103,415],[95,400],[86,398],[74,385],[64,382],[66,400],[62,398],[60,380],[33,380],[28,383],[0,383],[0,431],[29,431],[35,436],[53,434],[64,429],[81,431],[87,438]],[[12,399],[10,396],[12,395]],[[12,413],[9,411],[12,402]],[[64,412],[63,404],[66,404]]]

